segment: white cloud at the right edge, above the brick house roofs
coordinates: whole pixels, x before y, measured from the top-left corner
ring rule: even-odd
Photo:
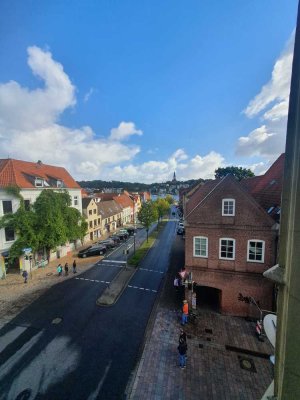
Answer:
[[[257,155],[274,160],[284,151],[293,48],[294,33],[275,62],[270,81],[244,110],[247,117],[258,117],[262,125],[238,139],[237,155]]]

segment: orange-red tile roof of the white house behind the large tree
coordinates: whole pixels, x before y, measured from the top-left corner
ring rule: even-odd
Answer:
[[[49,187],[54,187],[51,185],[51,180],[54,179],[61,180],[66,188],[80,189],[78,183],[63,167],[55,167],[39,162],[0,159],[0,188],[11,185],[18,186],[21,189],[35,188],[34,178],[44,179],[49,184]]]

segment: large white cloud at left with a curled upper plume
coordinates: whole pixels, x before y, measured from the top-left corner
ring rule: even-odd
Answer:
[[[99,178],[106,166],[132,160],[139,147],[120,140],[142,134],[133,122],[121,122],[110,138],[97,137],[89,126],[59,124],[61,114],[76,104],[75,86],[49,51],[27,51],[28,65],[44,85],[29,90],[15,81],[0,84],[0,158],[64,166],[76,179]]]

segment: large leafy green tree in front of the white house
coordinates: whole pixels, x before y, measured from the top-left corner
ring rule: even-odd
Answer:
[[[43,190],[30,210],[25,209],[19,190],[9,188],[8,192],[20,199],[18,210],[0,219],[0,228],[11,228],[17,236],[9,250],[11,262],[23,254],[25,247],[33,252],[45,248],[49,254],[67,241],[84,237],[87,223],[77,209],[70,207],[67,191]]]

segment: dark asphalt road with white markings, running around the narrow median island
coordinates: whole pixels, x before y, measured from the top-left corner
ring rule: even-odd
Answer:
[[[133,251],[133,239],[108,255],[109,262],[52,287],[4,326],[0,399],[124,398],[175,236],[170,221],[114,306],[99,307],[96,300],[118,273],[123,249]]]

